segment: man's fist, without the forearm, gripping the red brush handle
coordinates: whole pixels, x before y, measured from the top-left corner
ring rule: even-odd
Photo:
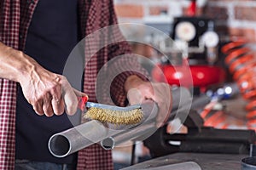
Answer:
[[[68,115],[77,111],[78,97],[83,94],[71,87],[67,78],[55,73],[36,71],[31,77],[20,80],[27,101],[38,115],[61,115],[65,108]],[[33,76],[32,76],[33,75]]]

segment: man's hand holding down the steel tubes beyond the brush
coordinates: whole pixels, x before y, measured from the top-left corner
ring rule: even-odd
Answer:
[[[145,99],[154,100],[159,107],[156,125],[157,127],[164,125],[172,111],[172,90],[170,85],[162,82],[144,82],[137,76],[131,76],[125,82],[125,90],[131,105],[142,103]]]

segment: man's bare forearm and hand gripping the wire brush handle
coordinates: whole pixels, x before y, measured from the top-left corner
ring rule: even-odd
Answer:
[[[0,42],[0,77],[20,82],[26,100],[38,115],[77,111],[78,97],[86,94],[71,87],[67,78],[45,70],[30,56]]]

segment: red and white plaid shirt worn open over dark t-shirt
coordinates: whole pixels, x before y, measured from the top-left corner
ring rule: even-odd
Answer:
[[[38,0],[0,1],[1,42],[18,50],[24,49],[26,33],[37,3]],[[111,0],[79,0],[79,19],[82,37],[90,35],[104,26],[117,23]],[[111,38],[122,38],[119,31],[114,31],[111,34]],[[85,45],[85,53],[96,48],[97,43],[94,42],[93,44]],[[102,48],[90,59],[84,70],[84,92],[89,94],[91,100],[96,101],[96,75],[102,65],[114,56],[127,53],[130,53],[127,43],[118,42]],[[135,63],[132,65],[139,67]],[[90,75],[86,72],[90,72]],[[118,105],[125,104],[124,82],[129,75],[131,72],[126,71],[113,81],[117,83],[113,83],[111,88],[112,97]],[[16,82],[0,79],[0,169],[3,170],[14,169],[15,165],[15,103]],[[77,169],[113,169],[111,151],[103,150],[97,144],[80,150]]]

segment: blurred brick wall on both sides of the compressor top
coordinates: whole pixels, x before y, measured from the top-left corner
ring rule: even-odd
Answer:
[[[114,0],[119,22],[172,22],[185,14],[189,0]],[[255,0],[208,0],[198,6],[197,14],[216,20],[223,36],[246,37],[256,43]],[[165,16],[165,17],[162,17]]]

